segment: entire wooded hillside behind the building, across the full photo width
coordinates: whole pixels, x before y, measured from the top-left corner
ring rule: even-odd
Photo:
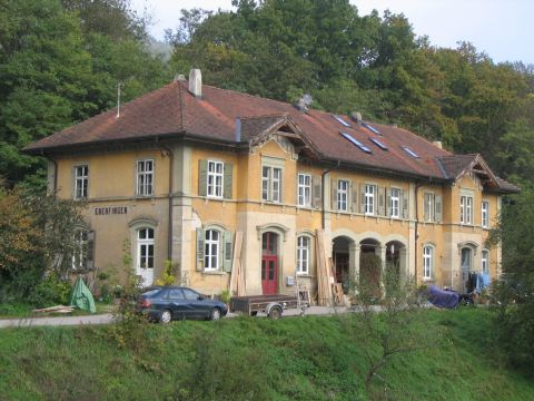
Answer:
[[[42,189],[29,143],[200,68],[205,82],[397,124],[455,153],[481,153],[532,186],[534,68],[495,63],[469,42],[416,37],[403,14],[360,16],[348,0],[235,1],[182,10],[155,51],[129,0],[0,0],[0,176]],[[170,28],[170,27],[169,27]]]

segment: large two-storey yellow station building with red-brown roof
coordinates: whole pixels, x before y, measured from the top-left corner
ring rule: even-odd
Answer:
[[[170,260],[207,294],[233,268],[247,294],[290,293],[296,280],[315,294],[323,256],[347,283],[365,253],[463,291],[468,272],[500,273],[500,248],[484,243],[517,190],[479,155],[305,99],[202,86],[199,70],[27,151],[50,160],[51,190],[88,200],[77,235],[90,252],[75,270],[121,266],[127,244],[145,284]]]

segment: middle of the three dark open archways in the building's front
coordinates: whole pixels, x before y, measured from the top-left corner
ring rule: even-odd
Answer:
[[[382,296],[382,257],[380,243],[373,238],[365,238],[359,243],[359,286],[374,299]]]

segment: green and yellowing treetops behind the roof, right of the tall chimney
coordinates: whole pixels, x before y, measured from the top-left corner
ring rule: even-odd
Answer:
[[[403,14],[360,16],[346,0],[234,1],[235,11],[182,10],[167,33],[177,71],[208,84],[313,107],[360,111],[456,153],[481,153],[531,186],[533,70],[494,63],[468,42],[437,48]]]

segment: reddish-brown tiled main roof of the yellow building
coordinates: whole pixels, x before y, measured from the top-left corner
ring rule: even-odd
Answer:
[[[346,116],[343,118],[350,127],[343,126],[325,111],[312,109],[305,114],[287,102],[211,86],[204,85],[202,97],[196,98],[188,91],[187,81],[174,81],[122,105],[120,117],[117,117],[116,109],[111,109],[31,144],[24,150],[46,154],[71,146],[182,134],[233,143],[236,140],[237,117],[241,120],[241,140],[250,140],[285,119],[298,127],[306,141],[318,153],[319,159],[362,168],[448,179],[451,177],[444,175],[443,167],[454,176],[454,172],[468,164],[472,157],[454,156],[402,128],[372,124],[380,133],[378,135]],[[362,151],[340,133],[349,134],[367,146],[372,154]],[[372,137],[387,146],[387,150],[372,143]],[[403,147],[408,147],[418,157],[409,156]]]

